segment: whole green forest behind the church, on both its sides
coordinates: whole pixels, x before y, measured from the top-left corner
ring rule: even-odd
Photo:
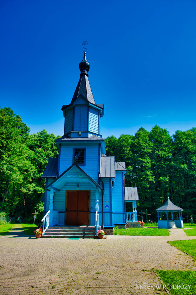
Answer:
[[[29,127],[10,108],[0,109],[0,211],[9,216],[42,217],[45,179],[49,158],[58,156],[53,133],[30,134]],[[155,209],[167,197],[184,209],[183,217],[196,219],[196,128],[177,130],[173,136],[155,125],[150,132],[141,127],[135,135],[113,135],[105,139],[106,155],[125,162],[125,186],[137,187],[138,212]],[[131,208],[128,208],[132,212]]]

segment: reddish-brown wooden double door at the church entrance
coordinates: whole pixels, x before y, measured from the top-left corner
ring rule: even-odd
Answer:
[[[66,191],[65,224],[90,224],[90,191]]]

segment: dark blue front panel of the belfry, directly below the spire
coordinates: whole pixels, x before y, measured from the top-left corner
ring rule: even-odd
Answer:
[[[87,128],[87,107],[75,106],[74,111],[74,131],[86,131]]]

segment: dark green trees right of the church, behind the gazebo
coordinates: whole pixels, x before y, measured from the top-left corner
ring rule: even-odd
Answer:
[[[170,196],[184,216],[196,219],[195,127],[173,136],[157,125],[150,132],[141,127],[134,136],[107,137],[105,145],[106,155],[126,163],[125,186],[138,188],[138,214],[148,209],[150,219],[157,221],[155,210]]]

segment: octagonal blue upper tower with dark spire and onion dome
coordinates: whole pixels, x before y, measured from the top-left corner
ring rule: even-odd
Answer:
[[[71,103],[61,108],[65,117],[64,136],[82,138],[96,135],[101,137],[100,117],[104,115],[104,106],[95,103],[88,81],[90,64],[86,60],[86,52],[79,63],[79,68],[80,79]]]

